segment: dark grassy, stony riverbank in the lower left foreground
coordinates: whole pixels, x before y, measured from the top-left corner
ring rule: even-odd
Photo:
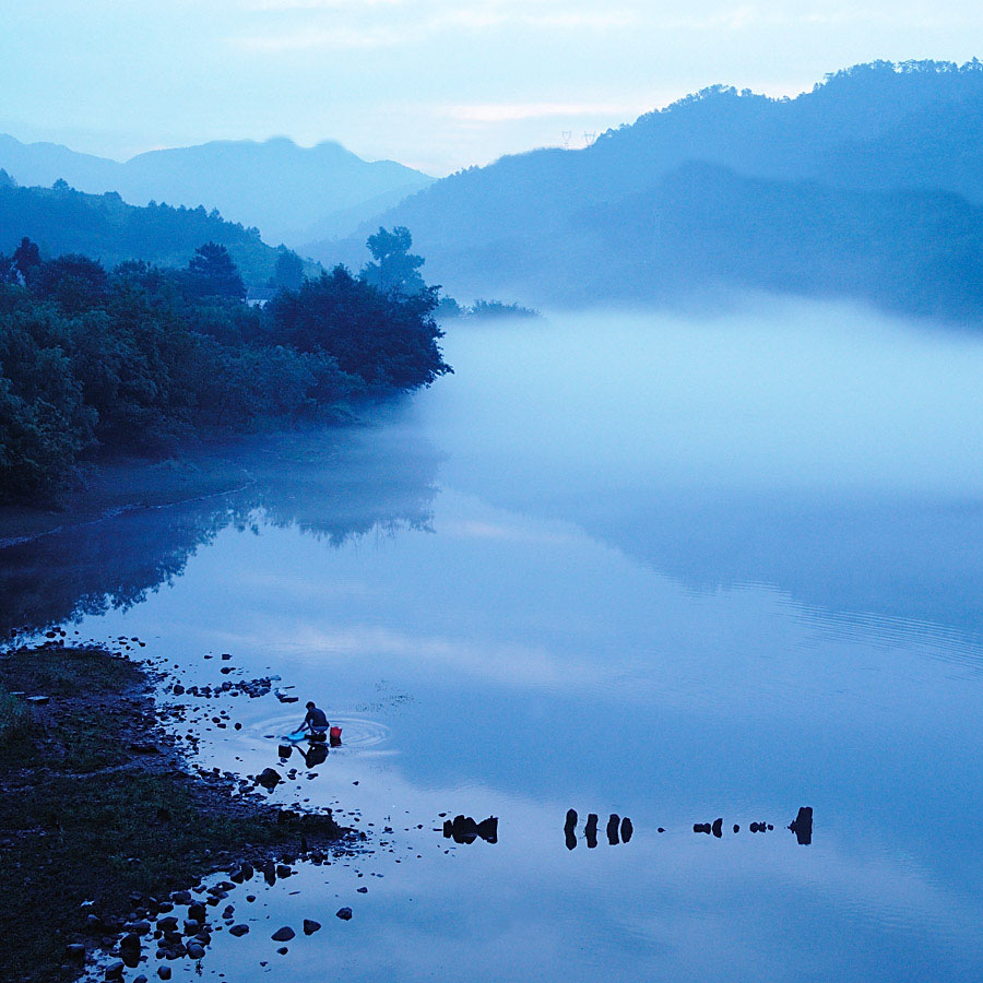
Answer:
[[[205,905],[226,892],[202,893],[203,877],[269,879],[354,843],[330,810],[281,809],[256,786],[185,770],[129,659],[58,637],[0,655],[0,981],[72,980],[93,955],[119,978],[147,944],[194,958],[223,931]]]

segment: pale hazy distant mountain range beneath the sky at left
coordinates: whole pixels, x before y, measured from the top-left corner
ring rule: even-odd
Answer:
[[[22,185],[62,179],[90,193],[117,191],[132,204],[217,209],[292,246],[348,233],[433,180],[392,161],[363,161],[339,143],[307,149],[285,138],[214,141],[118,163],[0,135],[0,167]]]

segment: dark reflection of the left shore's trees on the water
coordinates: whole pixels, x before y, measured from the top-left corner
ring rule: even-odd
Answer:
[[[217,452],[199,464],[215,460]],[[426,530],[438,463],[424,439],[375,426],[242,445],[237,464],[252,475],[245,488],[69,525],[0,550],[0,633],[133,607],[228,528],[294,525],[335,548],[369,533]]]

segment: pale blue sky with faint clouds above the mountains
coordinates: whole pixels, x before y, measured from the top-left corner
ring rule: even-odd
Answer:
[[[983,54],[968,0],[0,0],[0,132],[126,159],[337,140],[442,176],[707,85]]]

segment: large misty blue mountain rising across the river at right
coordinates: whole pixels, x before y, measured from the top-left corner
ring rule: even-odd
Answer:
[[[796,98],[713,86],[584,150],[461,171],[313,254],[354,262],[367,232],[405,225],[428,280],[465,299],[712,285],[962,317],[981,204],[983,64],[875,62]]]

